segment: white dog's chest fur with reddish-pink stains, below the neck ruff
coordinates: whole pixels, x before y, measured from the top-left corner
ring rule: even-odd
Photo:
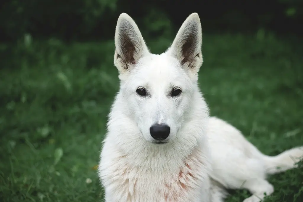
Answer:
[[[208,198],[208,172],[203,157],[198,153],[182,161],[177,171],[151,172],[136,169],[125,159],[103,166],[100,177],[106,195],[121,202],[184,202]],[[203,200],[207,201],[207,200]]]

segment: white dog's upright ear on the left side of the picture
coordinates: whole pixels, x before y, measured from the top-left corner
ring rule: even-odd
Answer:
[[[130,71],[149,50],[135,21],[122,13],[115,32],[114,64],[120,73]]]

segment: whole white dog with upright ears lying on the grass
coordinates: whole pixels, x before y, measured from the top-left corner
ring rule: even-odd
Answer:
[[[209,117],[198,87],[202,32],[197,13],[161,55],[134,20],[119,16],[114,64],[120,90],[109,114],[98,175],[107,202],[222,202],[225,188],[259,202],[268,174],[296,167],[303,147],[262,154],[233,126]]]

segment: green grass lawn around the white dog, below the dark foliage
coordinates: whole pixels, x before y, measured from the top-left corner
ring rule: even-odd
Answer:
[[[211,114],[268,155],[303,145],[302,43],[270,34],[205,34],[203,41],[199,82]],[[170,42],[148,44],[160,53]],[[101,201],[94,166],[119,87],[113,41],[34,39],[0,49],[0,201]],[[303,201],[302,168],[269,181],[268,202]],[[250,195],[230,194],[227,202]]]

